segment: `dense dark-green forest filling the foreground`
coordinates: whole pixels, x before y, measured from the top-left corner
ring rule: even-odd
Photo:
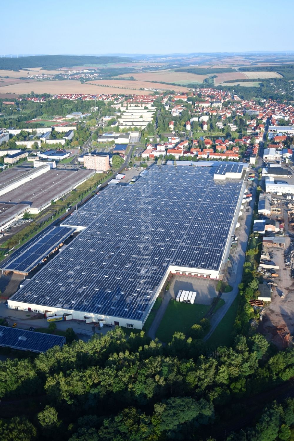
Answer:
[[[275,353],[260,334],[211,351],[182,333],[163,346],[117,327],[1,362],[0,439],[287,440],[293,374],[294,349]]]

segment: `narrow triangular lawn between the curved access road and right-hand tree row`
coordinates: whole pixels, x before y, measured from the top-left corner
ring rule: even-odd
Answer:
[[[218,348],[219,346],[231,346],[233,343],[232,331],[234,326],[234,321],[236,318],[238,310],[238,296],[234,299],[229,310],[223,317],[220,324],[216,327],[212,336],[207,340],[209,347]]]

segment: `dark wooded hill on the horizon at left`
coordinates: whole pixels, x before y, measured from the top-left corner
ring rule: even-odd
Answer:
[[[60,67],[73,67],[93,64],[108,64],[130,62],[130,58],[121,56],[77,56],[77,55],[40,55],[24,56],[20,58],[0,58],[0,69],[21,70],[30,67],[43,67],[43,69],[60,69]]]

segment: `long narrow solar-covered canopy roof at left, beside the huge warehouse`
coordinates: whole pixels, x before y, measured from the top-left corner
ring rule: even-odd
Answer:
[[[73,232],[73,228],[49,228],[43,235],[37,236],[19,248],[10,259],[2,264],[1,269],[28,274]]]

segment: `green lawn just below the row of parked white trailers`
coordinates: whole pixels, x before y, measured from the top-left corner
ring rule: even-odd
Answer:
[[[156,337],[167,343],[171,341],[173,334],[177,331],[186,334],[192,325],[205,316],[209,308],[210,305],[199,305],[197,303],[191,305],[170,300]]]

